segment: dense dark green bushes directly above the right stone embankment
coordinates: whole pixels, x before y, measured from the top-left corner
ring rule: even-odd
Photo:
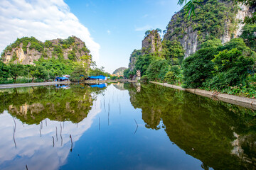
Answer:
[[[183,62],[183,86],[256,96],[255,57],[241,38],[201,48]]]

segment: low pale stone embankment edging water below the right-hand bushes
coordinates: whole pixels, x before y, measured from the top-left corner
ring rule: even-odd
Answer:
[[[230,94],[215,94],[212,91],[206,91],[206,90],[201,90],[201,89],[184,89],[181,86],[176,86],[172,84],[167,84],[167,83],[159,83],[155,81],[150,81],[153,84],[159,84],[161,86],[166,86],[166,87],[171,87],[173,89],[178,89],[181,91],[188,91],[192,94],[197,94],[200,96],[206,96],[208,98],[213,98],[215,100],[220,100],[224,101],[226,103],[231,103],[235,104],[238,106],[242,106],[245,108],[250,108],[253,110],[256,110],[256,99],[255,98],[245,98],[245,97],[240,97],[240,96],[234,96]]]

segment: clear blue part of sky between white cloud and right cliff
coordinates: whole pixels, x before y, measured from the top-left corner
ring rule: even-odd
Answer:
[[[154,0],[65,0],[70,12],[88,28],[100,44],[97,67],[112,73],[118,67],[128,67],[129,55],[142,47],[146,30],[164,30],[171,16],[181,6],[177,1]]]

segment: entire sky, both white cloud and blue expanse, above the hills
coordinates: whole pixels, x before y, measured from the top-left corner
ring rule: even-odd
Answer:
[[[97,67],[112,74],[128,67],[142,48],[146,30],[165,30],[181,9],[178,0],[0,0],[0,51],[16,38],[38,40],[75,35],[85,42]]]

